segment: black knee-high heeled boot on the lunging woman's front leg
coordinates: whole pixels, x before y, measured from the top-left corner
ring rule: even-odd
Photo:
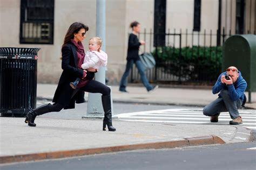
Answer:
[[[103,110],[105,112],[104,114],[104,119],[103,119],[103,130],[106,130],[106,125],[107,129],[109,131],[116,131],[116,128],[112,126],[112,113],[111,113],[111,98],[110,95],[107,96],[102,96],[102,105],[103,105]]]

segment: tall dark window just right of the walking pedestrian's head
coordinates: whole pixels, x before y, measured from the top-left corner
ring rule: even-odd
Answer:
[[[166,0],[154,1],[154,46],[165,46]]]

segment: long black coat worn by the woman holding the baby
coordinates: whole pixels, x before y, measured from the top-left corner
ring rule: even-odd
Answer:
[[[77,77],[83,77],[83,69],[79,69],[77,67],[77,61],[78,56],[76,47],[70,42],[62,48],[63,72],[60,76],[58,87],[52,100],[53,103],[65,105],[64,109],[75,108],[75,101],[81,100],[77,97],[84,97],[84,91],[77,92],[73,90],[69,85],[70,82],[75,81]]]

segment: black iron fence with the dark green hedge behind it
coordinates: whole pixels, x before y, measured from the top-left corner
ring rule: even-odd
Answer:
[[[212,84],[221,73],[222,46],[231,35],[231,31],[227,33],[224,29],[221,34],[218,30],[183,32],[175,29],[154,34],[145,29],[139,34],[139,39],[146,41],[140,52],[151,52],[157,63],[155,68],[146,70],[146,75],[150,82],[155,83]],[[163,37],[161,42],[157,42],[158,36]],[[220,45],[217,44],[218,36]],[[138,70],[133,66],[129,82],[139,81]]]

